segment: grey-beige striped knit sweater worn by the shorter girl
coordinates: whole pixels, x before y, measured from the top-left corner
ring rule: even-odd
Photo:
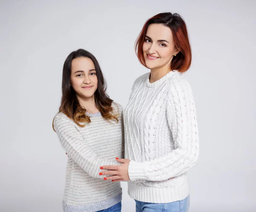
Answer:
[[[61,146],[69,155],[64,212],[95,212],[121,201],[120,183],[103,180],[99,175],[103,165],[118,165],[115,158],[124,157],[122,106],[112,104],[113,113],[119,111],[119,122],[107,121],[101,113],[90,114],[91,122],[79,127],[64,113],[58,113],[54,127]]]

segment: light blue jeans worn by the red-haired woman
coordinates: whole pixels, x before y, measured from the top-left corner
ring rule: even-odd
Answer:
[[[180,201],[170,203],[136,202],[136,212],[188,212],[189,195]]]

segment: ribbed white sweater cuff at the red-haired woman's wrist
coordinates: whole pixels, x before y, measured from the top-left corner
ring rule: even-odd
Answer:
[[[142,163],[138,163],[136,161],[130,161],[128,166],[128,175],[131,181],[146,179]]]

